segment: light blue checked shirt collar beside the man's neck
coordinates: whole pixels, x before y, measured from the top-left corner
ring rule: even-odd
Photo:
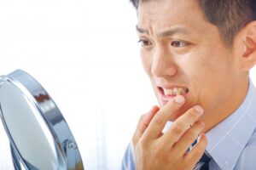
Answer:
[[[207,133],[207,152],[221,169],[233,169],[256,127],[256,93],[249,82],[239,108]]]

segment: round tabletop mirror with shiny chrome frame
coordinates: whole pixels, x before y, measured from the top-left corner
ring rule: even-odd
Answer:
[[[84,169],[61,111],[25,71],[0,77],[0,115],[15,169]]]

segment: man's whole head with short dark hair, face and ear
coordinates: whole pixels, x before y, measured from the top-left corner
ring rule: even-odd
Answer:
[[[177,94],[186,98],[183,110],[171,119],[202,105],[211,127],[235,111],[256,63],[255,1],[132,2],[143,66],[160,106]]]

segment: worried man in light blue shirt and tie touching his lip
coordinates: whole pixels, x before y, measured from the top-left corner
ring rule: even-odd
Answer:
[[[256,1],[131,2],[160,107],[141,117],[122,168],[256,169]]]

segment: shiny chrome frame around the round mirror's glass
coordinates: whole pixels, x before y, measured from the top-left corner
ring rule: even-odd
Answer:
[[[23,94],[30,104],[32,104],[38,111],[38,114],[43,117],[44,122],[48,127],[47,130],[49,130],[52,134],[52,138],[55,140],[55,149],[56,151],[59,150],[57,155],[60,154],[64,158],[67,169],[84,169],[78,145],[67,125],[67,122],[62,116],[57,105],[55,105],[54,100],[51,99],[39,82],[25,71],[17,70],[7,76],[0,77],[0,88],[3,83],[10,83],[12,86],[15,86],[15,88],[18,88],[20,93]],[[32,167],[32,165],[25,161],[20,155],[19,149],[16,147],[15,141],[12,139],[12,135],[4,121],[2,110],[2,105],[0,103],[0,116],[3,122],[3,127],[9,137],[15,169],[22,169],[22,167],[26,169],[37,169],[36,167]]]

